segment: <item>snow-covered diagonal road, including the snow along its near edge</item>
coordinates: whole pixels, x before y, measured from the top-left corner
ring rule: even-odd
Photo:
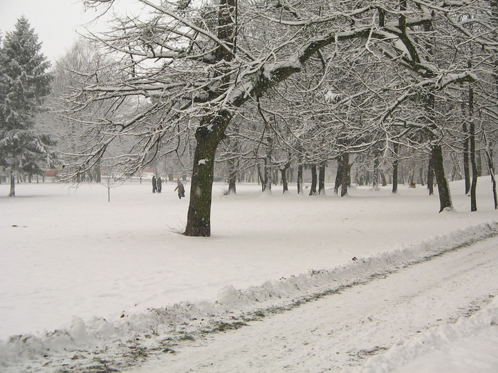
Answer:
[[[133,372],[498,370],[498,237],[392,270]]]

